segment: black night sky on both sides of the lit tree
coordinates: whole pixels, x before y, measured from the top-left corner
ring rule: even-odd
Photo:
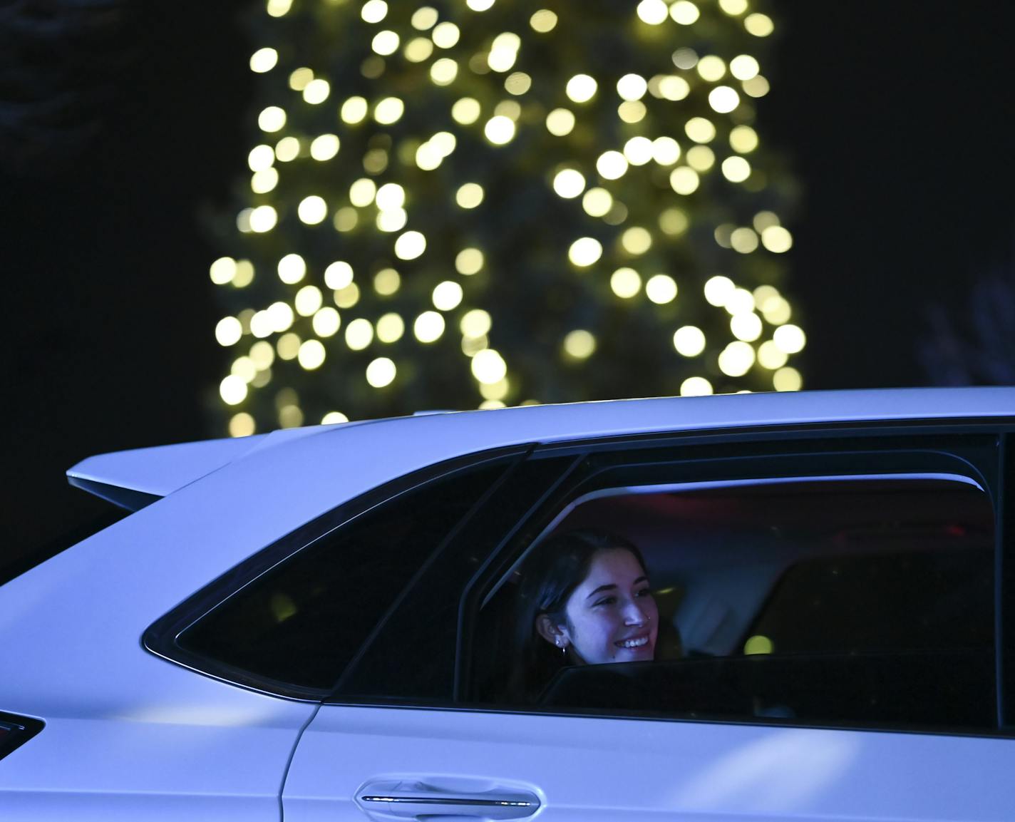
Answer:
[[[65,485],[78,460],[209,433],[223,357],[198,214],[246,180],[242,5],[139,4],[103,141],[67,174],[0,176],[5,554],[96,507]],[[1015,4],[771,8],[758,130],[803,187],[787,290],[806,385],[925,385],[926,306],[960,311],[978,274],[1013,266]]]

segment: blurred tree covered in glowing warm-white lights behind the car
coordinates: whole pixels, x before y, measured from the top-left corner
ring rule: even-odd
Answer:
[[[800,387],[748,0],[268,0],[253,28],[211,267],[231,433]]]

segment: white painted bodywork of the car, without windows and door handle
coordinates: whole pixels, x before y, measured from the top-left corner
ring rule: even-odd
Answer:
[[[1013,412],[1015,389],[632,400],[320,426],[84,461],[76,476],[165,497],[0,590],[0,709],[47,723],[0,761],[0,816],[278,819],[289,756],[317,705],[187,670],[143,649],[141,634],[261,548],[403,475],[526,442]],[[796,740],[794,752],[786,740]],[[546,791],[541,813],[561,821],[665,807],[684,820],[852,813],[993,822],[1015,808],[1011,789],[998,790],[1015,770],[1009,740],[326,706],[298,745],[286,820],[362,819],[342,804],[362,780],[422,764],[426,773],[536,784]],[[986,783],[993,795],[976,787]],[[984,804],[963,804],[971,797]],[[600,800],[612,810],[594,813]],[[769,816],[744,816],[749,807]]]

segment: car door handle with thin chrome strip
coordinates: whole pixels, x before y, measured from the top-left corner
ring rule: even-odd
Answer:
[[[379,781],[365,784],[356,792],[356,805],[367,816],[378,820],[432,816],[522,819],[539,810],[539,798],[515,789],[448,791],[423,781]]]

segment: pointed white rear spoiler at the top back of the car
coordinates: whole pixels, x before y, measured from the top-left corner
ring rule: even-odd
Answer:
[[[99,454],[68,469],[67,481],[122,508],[138,510],[252,451],[319,433],[324,427]]]

